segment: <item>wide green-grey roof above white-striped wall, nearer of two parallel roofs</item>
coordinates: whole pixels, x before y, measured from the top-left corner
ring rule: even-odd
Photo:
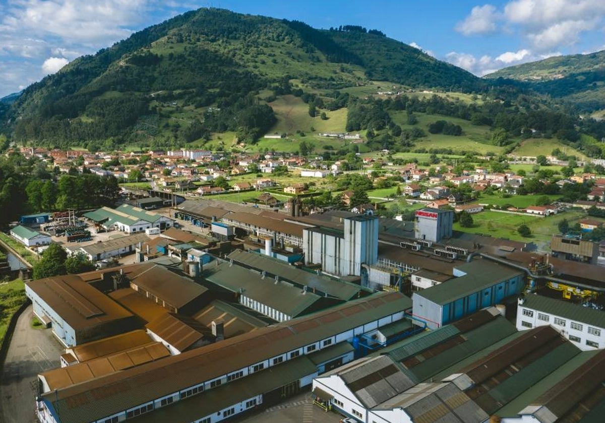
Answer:
[[[229,262],[208,266],[204,277],[232,292],[240,292],[253,300],[296,317],[308,311],[322,297],[310,291],[296,288],[292,283],[275,282],[272,277],[263,278],[257,271],[249,270]]]

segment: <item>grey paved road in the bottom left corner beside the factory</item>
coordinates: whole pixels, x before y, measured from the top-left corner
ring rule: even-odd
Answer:
[[[65,350],[51,329],[32,329],[31,305],[19,316],[0,375],[0,422],[36,422],[38,373],[60,367]]]

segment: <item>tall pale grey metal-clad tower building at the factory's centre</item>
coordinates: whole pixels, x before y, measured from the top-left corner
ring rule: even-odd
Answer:
[[[378,218],[343,219],[344,229],[305,228],[302,250],[306,265],[320,264],[326,273],[361,276],[362,266],[378,262]]]

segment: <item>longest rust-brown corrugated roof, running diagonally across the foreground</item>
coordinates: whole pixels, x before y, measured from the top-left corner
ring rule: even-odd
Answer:
[[[267,357],[284,354],[296,347],[401,312],[409,308],[411,303],[408,297],[398,292],[374,294],[370,299],[353,300],[164,360],[111,373],[45,394],[44,399],[48,404],[60,402],[58,407],[64,423],[94,421],[208,381],[233,369],[250,366]],[[355,309],[355,313],[348,313],[351,309]],[[309,363],[315,368],[313,363]],[[244,384],[249,378],[243,379]],[[149,416],[152,417],[155,418],[155,413]]]

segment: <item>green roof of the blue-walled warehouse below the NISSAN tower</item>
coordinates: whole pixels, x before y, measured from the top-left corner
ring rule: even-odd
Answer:
[[[454,277],[439,285],[414,292],[414,295],[444,305],[522,274],[519,270],[485,259],[465,263],[456,268],[465,272],[465,276]]]

